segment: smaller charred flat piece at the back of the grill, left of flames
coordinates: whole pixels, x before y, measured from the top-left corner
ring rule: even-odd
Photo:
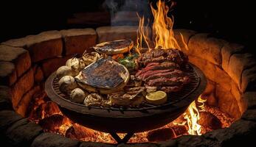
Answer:
[[[132,40],[114,40],[99,43],[94,46],[94,50],[101,54],[120,54],[130,51],[134,47]]]

